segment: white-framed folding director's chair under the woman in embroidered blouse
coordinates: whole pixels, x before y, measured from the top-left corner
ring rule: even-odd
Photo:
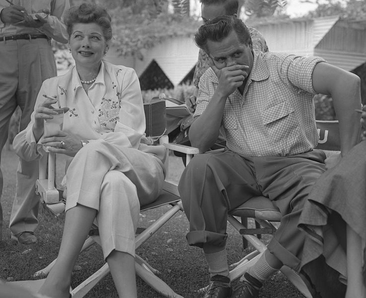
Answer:
[[[169,147],[169,144],[167,144],[168,136],[164,135],[166,128],[164,101],[145,104],[144,107],[146,117],[146,136],[151,137],[150,140],[152,141],[155,140],[154,144],[161,144],[164,145],[167,150],[170,148],[187,154],[188,160],[190,160],[194,154],[199,153],[198,149],[187,146],[172,145],[172,147]],[[156,121],[156,119],[158,119],[158,121]],[[166,170],[168,170],[168,153],[169,152],[167,152],[167,158],[165,161]],[[55,215],[59,215],[65,210],[65,200],[62,198],[62,191],[58,190],[55,186],[55,156],[55,153],[48,153],[48,155],[45,155],[40,160],[40,173],[39,179],[36,182],[36,192],[40,194],[42,203],[44,203],[47,208],[50,209]],[[159,197],[153,203],[141,206],[140,213],[166,205],[171,205],[172,207],[148,227],[139,227],[137,229],[135,238],[136,249],[143,245],[146,240],[148,240],[156,231],[158,231],[162,225],[167,223],[177,212],[183,211],[177,185],[175,182],[169,180],[168,173],[166,177],[167,178],[164,181],[163,189]],[[97,227],[90,230],[89,237],[84,242],[80,253],[96,243],[100,245]],[[51,262],[47,267],[37,271],[34,274],[34,277],[44,278],[47,276],[55,262],[56,260]],[[165,282],[157,277],[159,274],[158,270],[152,268],[143,258],[138,255],[135,257],[135,268],[136,274],[159,294],[168,298],[183,298],[182,296],[176,294]],[[105,263],[98,271],[92,274],[85,281],[81,282],[74,289],[70,289],[71,297],[84,297],[108,273],[108,264]],[[34,281],[12,282],[11,284],[18,285],[19,287],[27,289],[30,292],[37,292],[43,282],[44,279],[40,279]]]

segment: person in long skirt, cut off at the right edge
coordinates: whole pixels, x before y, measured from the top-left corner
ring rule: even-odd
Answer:
[[[356,115],[355,111],[355,117]],[[366,138],[366,106],[361,124]],[[327,159],[331,163],[337,159]],[[327,160],[325,161],[327,166]],[[362,141],[328,169],[308,197],[299,227],[309,237],[303,264],[320,255],[347,278],[346,298],[366,297],[366,141]],[[344,280],[344,279],[343,279]]]

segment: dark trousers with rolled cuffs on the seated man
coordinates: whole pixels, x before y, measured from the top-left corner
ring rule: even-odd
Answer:
[[[196,155],[178,185],[190,222],[188,243],[224,246],[227,212],[263,195],[283,215],[268,249],[299,270],[305,234],[297,222],[312,185],[325,171],[324,159],[320,150],[286,157],[242,156],[229,150]]]

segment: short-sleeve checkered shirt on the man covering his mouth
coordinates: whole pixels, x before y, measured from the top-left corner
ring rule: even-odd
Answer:
[[[314,149],[312,72],[320,57],[254,52],[253,69],[244,94],[227,99],[221,121],[226,146],[251,156],[287,156]],[[194,117],[203,113],[218,86],[208,69],[200,79]]]

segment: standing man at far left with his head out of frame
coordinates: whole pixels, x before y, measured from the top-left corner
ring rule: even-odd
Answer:
[[[19,130],[25,129],[42,82],[57,75],[51,39],[68,42],[62,22],[69,0],[0,0],[0,151],[7,140],[11,115],[21,109]],[[16,194],[10,216],[11,239],[37,242],[40,200],[35,194],[38,161],[19,159]],[[0,195],[3,177],[0,171]],[[0,239],[2,239],[0,205]]]

